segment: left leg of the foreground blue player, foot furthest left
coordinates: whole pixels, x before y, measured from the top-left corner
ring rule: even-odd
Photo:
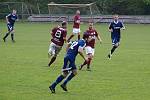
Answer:
[[[52,93],[55,93],[55,87],[57,86],[57,84],[59,84],[65,77],[67,77],[67,75],[68,75],[68,70],[67,70],[68,61],[69,61],[68,58],[65,57],[64,58],[64,65],[63,65],[63,69],[62,69],[63,73],[61,75],[59,75],[57,77],[56,81],[53,82],[49,86],[49,88],[50,88],[50,90],[51,90]]]

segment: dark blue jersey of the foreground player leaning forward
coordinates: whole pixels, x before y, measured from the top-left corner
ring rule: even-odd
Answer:
[[[81,39],[78,41],[74,41],[71,43],[71,46],[69,47],[66,56],[71,58],[72,60],[75,60],[77,54],[78,54],[78,49],[84,48],[86,46],[85,40]]]

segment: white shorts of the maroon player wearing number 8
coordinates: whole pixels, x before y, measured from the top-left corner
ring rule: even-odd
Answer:
[[[62,48],[61,46],[58,46],[58,45],[56,45],[55,43],[52,42],[49,46],[48,54],[50,56],[55,56],[56,57],[59,54],[61,48]]]

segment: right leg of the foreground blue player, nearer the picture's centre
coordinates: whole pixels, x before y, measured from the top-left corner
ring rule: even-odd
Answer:
[[[73,77],[75,77],[75,76],[77,75],[77,68],[76,68],[76,66],[75,66],[75,63],[74,63],[74,62],[70,62],[69,66],[72,67],[72,68],[71,68],[72,71],[71,71],[71,73],[69,74],[69,76],[65,79],[65,81],[63,82],[63,84],[61,84],[61,87],[62,87],[62,89],[63,89],[64,91],[68,91],[68,90],[67,90],[67,83],[68,83],[69,81],[71,81]]]

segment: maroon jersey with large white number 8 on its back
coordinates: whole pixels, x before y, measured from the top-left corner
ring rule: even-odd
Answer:
[[[63,29],[61,27],[56,27],[56,28],[54,28],[52,30],[51,35],[52,35],[51,41],[53,43],[55,43],[58,46],[63,46],[63,44],[64,44],[64,38],[67,35],[67,30]]]

